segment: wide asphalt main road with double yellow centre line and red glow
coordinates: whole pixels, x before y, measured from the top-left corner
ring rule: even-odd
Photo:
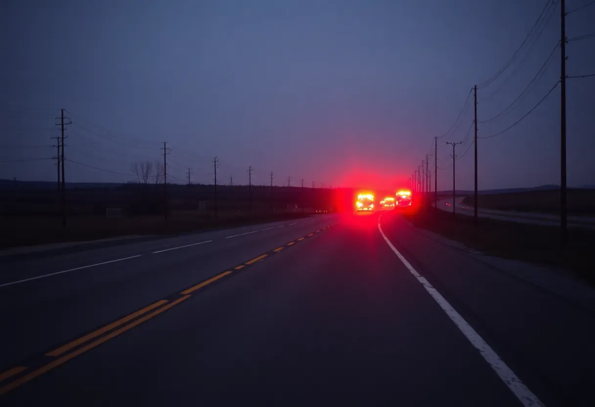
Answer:
[[[592,312],[396,211],[2,265],[0,326],[2,406],[595,405]]]

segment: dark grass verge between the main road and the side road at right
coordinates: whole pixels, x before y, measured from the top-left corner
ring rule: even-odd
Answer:
[[[568,244],[560,245],[558,227],[522,224],[419,208],[403,214],[416,227],[424,228],[488,255],[533,262],[567,270],[595,284],[595,231],[569,229]]]

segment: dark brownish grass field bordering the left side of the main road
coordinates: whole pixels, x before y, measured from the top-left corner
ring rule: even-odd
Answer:
[[[62,227],[60,217],[11,216],[0,218],[0,248],[43,243],[80,242],[131,235],[167,235],[217,227],[233,227],[307,217],[308,212],[270,212],[245,214],[237,211],[214,213],[198,211],[173,212],[164,216],[150,215],[121,219],[105,216],[80,215],[67,218]]]

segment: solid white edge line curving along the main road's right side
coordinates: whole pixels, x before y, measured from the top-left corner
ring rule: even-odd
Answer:
[[[399,253],[399,251],[393,246],[393,243],[390,242],[390,240],[386,237],[386,234],[384,234],[384,232],[382,231],[382,228],[380,227],[381,217],[382,215],[378,217],[378,230],[380,230],[380,234],[384,238],[384,241],[387,243],[387,245],[389,245],[389,247],[392,249],[394,254],[397,255],[400,261],[402,261],[403,264],[405,264],[405,267],[409,270],[409,272],[413,274],[415,278],[417,278],[419,283],[421,283],[422,286],[424,286],[425,290],[432,296],[434,300],[436,300],[438,305],[440,305],[440,308],[442,308],[442,310],[446,312],[446,315],[450,317],[453,323],[455,323],[459,330],[461,330],[461,332],[465,335],[469,342],[471,342],[471,345],[475,346],[475,348],[480,351],[481,356],[483,356],[486,362],[488,362],[488,364],[502,379],[506,386],[508,386],[508,388],[511,389],[512,393],[515,394],[515,396],[519,399],[522,405],[543,406],[543,403],[540,402],[537,396],[534,395],[533,392],[531,392],[531,390],[529,390],[524,383],[522,383],[521,379],[519,379],[516,376],[516,374],[511,370],[511,368],[509,368],[508,365],[506,365],[506,363],[502,359],[500,359],[500,356],[498,356],[497,353],[494,352],[493,349],[491,349],[490,345],[488,345],[486,341],[484,341],[482,337],[477,332],[475,332],[471,325],[469,325],[467,321],[465,321],[465,319],[461,317],[461,314],[459,314],[455,311],[454,308],[452,308],[449,302],[447,302],[447,300],[444,299],[444,297],[438,292],[438,290],[434,288],[434,286],[432,286],[432,284],[430,284],[430,281],[426,280],[425,277],[422,277],[422,275],[419,274],[411,264],[409,264],[405,257],[403,257],[401,253]]]

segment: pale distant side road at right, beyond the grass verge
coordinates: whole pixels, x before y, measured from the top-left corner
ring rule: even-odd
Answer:
[[[455,198],[455,211],[462,215],[473,216],[473,206],[463,204],[464,196]],[[452,198],[440,199],[438,208],[452,212]],[[505,220],[509,222],[528,223],[542,226],[560,226],[560,217],[553,214],[536,214],[531,212],[498,211],[496,209],[478,208],[477,215],[481,218]],[[568,227],[595,229],[595,218],[585,216],[569,216]]]

